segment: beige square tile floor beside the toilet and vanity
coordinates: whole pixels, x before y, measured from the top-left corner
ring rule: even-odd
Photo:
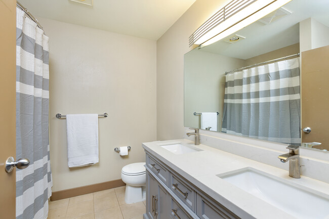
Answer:
[[[126,187],[49,202],[47,219],[143,219],[145,201],[125,203]]]

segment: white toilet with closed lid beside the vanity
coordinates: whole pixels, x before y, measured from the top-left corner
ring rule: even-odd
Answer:
[[[145,162],[131,163],[121,169],[121,180],[126,183],[127,204],[144,201],[146,197]]]

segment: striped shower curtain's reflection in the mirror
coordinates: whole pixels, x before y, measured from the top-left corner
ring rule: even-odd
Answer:
[[[226,75],[222,132],[300,145],[299,58]]]

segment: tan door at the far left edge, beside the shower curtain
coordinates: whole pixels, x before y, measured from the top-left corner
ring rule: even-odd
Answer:
[[[0,218],[15,218],[15,168],[5,171],[16,156],[16,1],[0,1]]]

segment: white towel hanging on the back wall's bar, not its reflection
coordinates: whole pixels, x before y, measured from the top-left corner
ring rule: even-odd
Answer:
[[[98,163],[98,114],[66,115],[67,165]]]

